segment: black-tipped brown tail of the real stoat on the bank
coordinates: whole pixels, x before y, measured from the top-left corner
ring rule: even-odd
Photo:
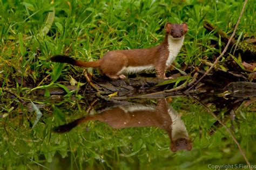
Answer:
[[[80,61],[70,58],[69,56],[65,55],[55,55],[51,57],[51,61],[53,62],[62,62],[62,63],[69,63],[73,66],[79,66],[79,67],[92,67],[96,68],[100,66],[100,60],[98,61]]]

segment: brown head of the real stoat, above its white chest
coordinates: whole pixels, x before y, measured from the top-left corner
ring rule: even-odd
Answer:
[[[187,33],[187,23],[182,24],[165,24],[165,31],[173,39],[180,39]]]

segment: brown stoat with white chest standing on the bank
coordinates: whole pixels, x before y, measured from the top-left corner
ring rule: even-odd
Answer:
[[[65,55],[52,56],[51,61],[99,68],[100,72],[111,79],[124,79],[125,75],[148,70],[156,70],[157,77],[168,79],[165,71],[178,55],[187,30],[186,23],[166,23],[164,41],[155,47],[109,51],[97,61],[80,61]]]

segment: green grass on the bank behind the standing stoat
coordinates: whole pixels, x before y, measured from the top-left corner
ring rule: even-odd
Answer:
[[[220,49],[211,47],[219,41],[203,28],[207,19],[226,32],[233,30],[243,1],[2,1],[1,53],[2,87],[14,87],[13,77],[37,87],[51,81],[69,80],[80,68],[65,66],[63,74],[53,73],[55,54],[97,60],[113,49],[144,48],[159,44],[166,22],[187,22],[185,45],[176,60],[178,66],[199,66],[200,59],[212,60]],[[238,28],[243,38],[254,35],[255,3],[247,5]],[[52,14],[52,12],[55,12]],[[46,18],[54,19],[49,23]],[[51,26],[48,24],[52,24]],[[50,26],[47,35],[42,33]],[[222,45],[221,43],[219,44]],[[48,79],[49,78],[49,79]],[[52,79],[50,79],[52,78]]]

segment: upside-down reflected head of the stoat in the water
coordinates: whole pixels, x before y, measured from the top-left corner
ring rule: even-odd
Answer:
[[[186,138],[179,138],[171,141],[170,149],[172,152],[177,152],[179,150],[192,150],[192,141]]]

